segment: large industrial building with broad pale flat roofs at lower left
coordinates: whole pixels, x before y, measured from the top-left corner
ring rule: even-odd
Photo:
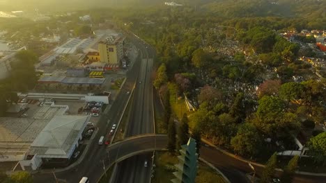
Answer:
[[[69,159],[91,116],[67,115],[68,105],[51,101],[29,108],[29,116],[0,118],[0,162],[35,170],[45,158]]]

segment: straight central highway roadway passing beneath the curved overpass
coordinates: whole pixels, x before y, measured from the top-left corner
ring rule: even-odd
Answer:
[[[132,98],[132,114],[127,125],[125,136],[132,137],[138,134],[154,133],[153,123],[153,57],[155,51],[141,40],[130,38],[133,44],[141,51],[141,71],[137,80],[137,87]],[[112,182],[116,183],[146,183],[150,181],[151,156],[153,153],[130,157],[117,165],[117,175]],[[144,166],[144,162],[148,166]]]

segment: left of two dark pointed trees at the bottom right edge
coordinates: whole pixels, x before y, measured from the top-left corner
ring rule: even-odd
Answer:
[[[270,159],[268,159],[265,164],[265,168],[263,169],[263,173],[261,174],[260,183],[270,183],[272,182],[272,177],[275,173],[275,168],[277,168],[277,154],[274,153]]]

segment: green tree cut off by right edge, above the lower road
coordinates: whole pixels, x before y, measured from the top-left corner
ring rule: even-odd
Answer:
[[[311,137],[308,143],[309,155],[316,163],[326,164],[326,132]]]

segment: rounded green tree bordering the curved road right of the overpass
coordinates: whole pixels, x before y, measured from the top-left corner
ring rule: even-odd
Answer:
[[[235,153],[244,156],[254,156],[261,148],[262,137],[251,123],[244,123],[238,129],[235,137],[231,139],[231,146]]]

